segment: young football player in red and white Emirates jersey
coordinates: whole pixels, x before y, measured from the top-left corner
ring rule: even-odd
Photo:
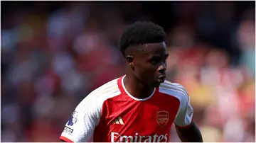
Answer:
[[[171,125],[182,142],[203,142],[183,86],[165,81],[164,30],[137,22],[119,47],[127,74],[92,91],[75,108],[60,136],[64,142],[169,142]]]

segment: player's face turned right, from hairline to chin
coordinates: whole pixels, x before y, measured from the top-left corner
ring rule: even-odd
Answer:
[[[133,55],[134,76],[151,87],[159,86],[166,78],[168,50],[165,42],[142,45]]]

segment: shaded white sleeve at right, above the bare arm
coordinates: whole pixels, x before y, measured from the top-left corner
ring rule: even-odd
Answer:
[[[174,124],[179,127],[187,127],[188,125],[191,125],[192,119],[193,108],[190,104],[189,97],[186,95],[181,98],[180,107],[176,118],[174,119]]]

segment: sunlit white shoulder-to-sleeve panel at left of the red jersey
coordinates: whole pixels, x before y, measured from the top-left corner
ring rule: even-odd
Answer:
[[[73,142],[93,142],[94,130],[101,118],[102,104],[108,98],[121,94],[117,80],[114,79],[96,88],[78,104],[77,108],[75,108],[75,111],[78,113],[75,123],[68,125],[67,122],[66,124],[72,132],[63,131],[62,137],[66,137]]]

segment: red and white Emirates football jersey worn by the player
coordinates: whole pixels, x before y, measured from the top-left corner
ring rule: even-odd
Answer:
[[[169,142],[171,125],[188,127],[193,108],[183,86],[164,81],[148,98],[131,96],[124,76],[92,91],[75,108],[65,142]]]

